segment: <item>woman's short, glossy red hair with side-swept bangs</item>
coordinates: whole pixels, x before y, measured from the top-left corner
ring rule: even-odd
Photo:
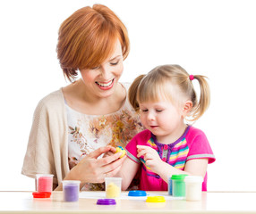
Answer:
[[[116,39],[125,59],[130,51],[127,29],[107,6],[94,4],[73,12],[59,29],[56,48],[64,76],[73,81],[78,70],[100,65],[114,51]]]

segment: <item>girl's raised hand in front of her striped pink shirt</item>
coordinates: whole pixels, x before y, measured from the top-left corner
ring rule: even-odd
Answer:
[[[158,152],[147,145],[137,145],[137,149],[137,157],[140,158],[143,156],[144,161],[146,161],[146,165],[149,166],[153,172],[158,173],[158,169],[163,163]]]

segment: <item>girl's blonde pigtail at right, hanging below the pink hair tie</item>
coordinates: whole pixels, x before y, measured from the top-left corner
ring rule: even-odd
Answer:
[[[193,108],[191,111],[192,121],[199,119],[203,113],[209,108],[210,102],[210,93],[209,93],[209,84],[206,80],[207,77],[201,75],[194,75],[193,78],[197,79],[201,89],[201,95],[199,102],[196,101],[196,94],[194,89],[192,90],[192,103]]]

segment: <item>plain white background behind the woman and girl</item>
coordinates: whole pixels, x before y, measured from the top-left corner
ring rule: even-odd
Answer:
[[[211,105],[195,124],[217,158],[208,188],[255,191],[256,12],[249,0],[1,1],[0,190],[34,190],[21,175],[33,111],[68,84],[56,59],[57,31],[74,11],[95,3],[110,7],[129,32],[121,81],[166,63],[209,77]]]

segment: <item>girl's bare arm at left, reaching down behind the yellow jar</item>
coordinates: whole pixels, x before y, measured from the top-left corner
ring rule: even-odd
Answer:
[[[139,163],[136,163],[126,157],[121,169],[115,175],[115,177],[122,177],[122,190],[123,191],[125,191],[129,187],[129,185],[132,182],[132,179],[135,177],[139,168],[140,168]]]

